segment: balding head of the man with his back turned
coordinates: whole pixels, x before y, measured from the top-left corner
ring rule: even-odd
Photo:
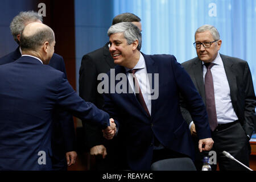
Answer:
[[[46,24],[33,22],[28,24],[20,35],[20,48],[24,54],[30,53],[48,64],[54,53],[55,35]]]

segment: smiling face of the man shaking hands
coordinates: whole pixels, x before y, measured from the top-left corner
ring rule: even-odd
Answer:
[[[109,52],[114,59],[114,63],[126,68],[130,68],[136,61],[134,59],[137,52],[138,40],[128,45],[123,36],[123,32],[118,32],[109,36]]]

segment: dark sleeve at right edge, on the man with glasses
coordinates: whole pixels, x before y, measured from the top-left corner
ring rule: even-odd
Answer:
[[[245,130],[246,134],[251,137],[254,130],[254,122],[256,121],[256,98],[254,93],[253,80],[251,78],[251,72],[247,62],[243,72],[243,82],[245,83],[245,123],[243,124],[243,129]]]

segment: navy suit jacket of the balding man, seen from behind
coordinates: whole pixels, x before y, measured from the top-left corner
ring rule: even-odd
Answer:
[[[51,170],[55,106],[104,129],[109,114],[82,100],[63,72],[23,56],[0,66],[0,169]],[[44,152],[46,164],[40,164]],[[41,154],[42,155],[42,154]]]

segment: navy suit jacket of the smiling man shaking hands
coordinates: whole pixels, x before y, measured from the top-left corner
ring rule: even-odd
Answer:
[[[143,56],[147,72],[159,73],[159,97],[151,101],[151,117],[147,116],[134,93],[104,94],[104,109],[117,122],[118,134],[126,133],[129,166],[133,170],[150,170],[154,136],[163,146],[193,159],[191,134],[180,112],[179,93],[182,93],[192,106],[191,114],[198,126],[200,139],[210,137],[204,103],[191,78],[174,56]],[[117,65],[115,75],[118,73],[126,74],[125,68]],[[118,82],[115,81],[115,84]],[[154,84],[153,79],[152,88]],[[127,88],[128,86],[127,81]]]

